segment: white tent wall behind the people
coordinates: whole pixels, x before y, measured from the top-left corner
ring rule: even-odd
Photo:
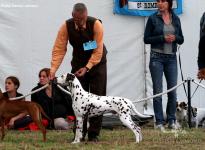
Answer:
[[[19,92],[23,94],[29,93],[37,84],[39,70],[50,67],[51,51],[58,29],[71,17],[72,7],[77,2],[85,3],[89,15],[103,21],[104,41],[108,49],[107,94],[132,100],[152,95],[147,68],[149,57],[145,55],[147,48],[143,42],[146,18],[113,14],[113,0],[0,0],[1,89],[4,89],[4,80],[9,75],[20,79]],[[180,51],[185,79],[196,79],[199,21],[204,8],[204,0],[183,2],[180,19],[185,42]],[[68,46],[57,75],[70,71],[71,52]],[[195,87],[192,86],[192,91]],[[192,104],[205,107],[204,96],[204,89],[199,88]],[[182,87],[178,89],[178,98],[186,101]],[[144,103],[136,106],[143,111]],[[148,106],[152,108],[151,101],[148,101]]]

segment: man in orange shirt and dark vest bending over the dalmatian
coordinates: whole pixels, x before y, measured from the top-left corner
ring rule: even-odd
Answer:
[[[87,8],[83,3],[74,5],[72,16],[58,32],[52,51],[50,79],[55,77],[62,63],[69,41],[73,47],[71,72],[78,77],[84,90],[104,96],[107,84],[107,50],[103,44],[102,23],[87,15]],[[92,117],[89,122],[88,140],[98,141],[102,116]]]

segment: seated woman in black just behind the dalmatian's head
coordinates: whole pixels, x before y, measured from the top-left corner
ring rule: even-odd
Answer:
[[[32,91],[49,83],[49,73],[49,68],[44,68],[39,72],[39,83]],[[67,116],[74,115],[72,100],[69,95],[56,87],[55,95],[52,98],[52,88],[51,85],[49,85],[46,89],[32,94],[31,100],[40,104],[45,113],[54,119],[55,129],[68,129]]]

